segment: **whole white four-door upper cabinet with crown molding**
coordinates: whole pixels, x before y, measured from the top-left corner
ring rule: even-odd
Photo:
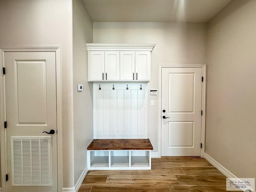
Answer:
[[[150,81],[151,51],[155,44],[86,45],[89,81]]]

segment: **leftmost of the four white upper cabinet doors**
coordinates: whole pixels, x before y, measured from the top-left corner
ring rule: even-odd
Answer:
[[[88,51],[88,80],[104,80],[104,51]]]

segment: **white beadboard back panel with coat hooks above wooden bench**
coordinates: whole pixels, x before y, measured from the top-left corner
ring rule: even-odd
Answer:
[[[146,83],[94,83],[94,138],[148,138]]]

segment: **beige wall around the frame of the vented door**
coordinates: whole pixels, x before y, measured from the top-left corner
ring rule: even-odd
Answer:
[[[72,2],[0,0],[0,46],[61,46],[63,184],[74,187]]]

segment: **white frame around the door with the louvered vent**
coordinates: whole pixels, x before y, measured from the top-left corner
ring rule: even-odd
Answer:
[[[6,129],[4,121],[6,121],[6,93],[5,93],[5,76],[2,73],[5,52],[55,52],[56,56],[56,101],[57,101],[57,155],[58,155],[58,192],[62,191],[62,97],[61,97],[61,62],[60,62],[60,46],[54,47],[0,47],[0,157],[1,157],[1,176],[2,176],[2,192],[7,192],[8,185],[5,181],[7,169],[7,142]],[[8,69],[6,69],[8,73]]]

